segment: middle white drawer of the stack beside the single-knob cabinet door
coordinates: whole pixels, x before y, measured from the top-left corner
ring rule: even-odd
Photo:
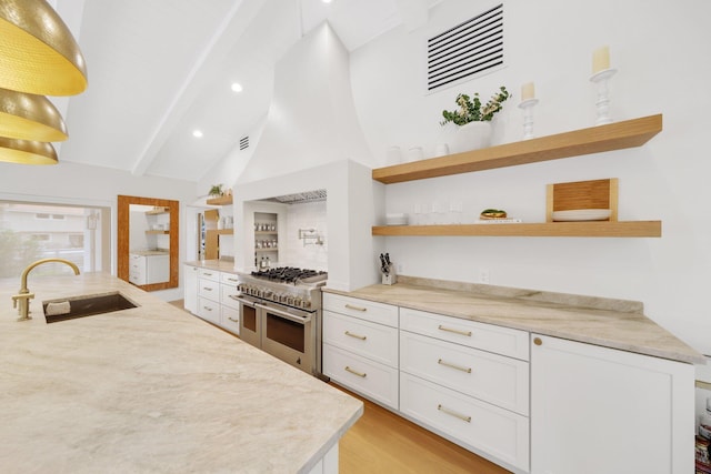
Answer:
[[[529,414],[529,364],[419,334],[400,333],[400,370]]]

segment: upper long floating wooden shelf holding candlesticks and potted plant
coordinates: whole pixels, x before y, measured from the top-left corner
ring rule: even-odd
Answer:
[[[662,115],[649,115],[483,150],[377,168],[372,177],[375,181],[391,184],[622,150],[643,145],[661,130]]]

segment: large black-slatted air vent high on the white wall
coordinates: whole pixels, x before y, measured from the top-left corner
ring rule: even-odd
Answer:
[[[451,85],[503,65],[503,3],[427,42],[427,89]]]

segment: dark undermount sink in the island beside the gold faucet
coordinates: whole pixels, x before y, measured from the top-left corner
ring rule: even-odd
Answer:
[[[48,311],[50,306],[50,311]],[[47,324],[77,317],[93,316],[94,314],[112,313],[114,311],[138,307],[121,293],[92,294],[86,296],[63,297],[42,302],[42,311]],[[49,313],[49,314],[48,314]]]

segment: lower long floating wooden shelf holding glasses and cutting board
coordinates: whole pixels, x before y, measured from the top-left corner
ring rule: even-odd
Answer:
[[[373,235],[389,236],[592,236],[659,238],[661,221],[541,222],[457,225],[377,225]]]

